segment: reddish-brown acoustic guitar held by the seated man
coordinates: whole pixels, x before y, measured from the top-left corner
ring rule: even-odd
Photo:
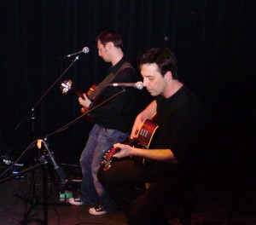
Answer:
[[[158,124],[155,122],[156,113],[152,118],[147,118],[143,121],[140,129],[138,130],[137,137],[134,140],[130,140],[125,142],[125,144],[133,146],[133,147],[140,147],[144,149],[148,149],[153,139],[154,133],[159,127]],[[104,155],[104,159],[102,161],[103,170],[108,170],[111,167],[111,163],[113,162],[113,155],[118,153],[120,150],[119,147],[113,147],[108,150],[108,153]],[[144,159],[143,159],[144,163]]]

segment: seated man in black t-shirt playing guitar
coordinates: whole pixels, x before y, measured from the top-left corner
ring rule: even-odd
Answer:
[[[149,49],[139,66],[143,85],[155,100],[137,115],[131,138],[137,137],[145,119],[157,113],[155,148],[115,144],[120,151],[114,157],[124,159],[113,162],[107,171],[101,168],[98,178],[125,210],[128,224],[168,224],[165,209],[195,185],[204,112],[200,101],[177,79],[177,61],[169,49]],[[146,159],[145,164],[136,158]],[[138,194],[134,187],[145,182],[151,185]]]

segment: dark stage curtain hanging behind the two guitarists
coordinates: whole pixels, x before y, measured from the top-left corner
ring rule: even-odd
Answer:
[[[250,132],[255,122],[255,1],[10,0],[0,1],[0,10],[0,155],[16,159],[32,140],[79,117],[77,98],[62,95],[60,83],[70,78],[86,92],[102,80],[109,65],[97,55],[95,38],[106,29],[122,35],[132,63],[151,47],[176,53],[180,80],[207,110],[212,168],[244,167],[255,155]],[[90,52],[79,55],[38,102],[71,65],[74,58],[65,56],[85,46]],[[50,136],[57,161],[78,163],[89,130],[90,124],[80,119]]]

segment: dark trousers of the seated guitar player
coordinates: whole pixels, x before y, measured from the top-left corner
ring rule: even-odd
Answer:
[[[112,163],[109,170],[98,171],[98,179],[121,209],[128,224],[168,224],[165,209],[176,205],[191,185],[177,165],[141,164],[124,159]],[[137,191],[145,182],[150,186]]]

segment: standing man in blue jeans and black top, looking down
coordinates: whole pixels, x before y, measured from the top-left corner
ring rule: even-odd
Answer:
[[[102,32],[96,38],[96,43],[98,55],[103,61],[111,63],[107,83],[137,82],[138,76],[125,59],[122,38],[118,33]],[[113,77],[109,79],[111,76]],[[98,85],[98,87],[104,87],[101,93],[102,101],[116,95],[121,90],[104,83],[106,83],[106,78]],[[113,144],[127,139],[136,117],[136,108],[141,105],[138,102],[135,104],[138,91],[127,88],[124,93],[115,96],[111,101],[102,104],[90,113],[90,117],[96,119],[96,124],[90,131],[89,139],[80,157],[83,174],[81,196],[80,199],[69,199],[69,202],[73,205],[92,205],[93,207],[89,210],[92,215],[102,215],[117,210],[117,205],[98,181],[96,173],[101,166],[104,154],[113,147]],[[84,98],[79,98],[79,103],[87,108],[94,105],[94,103],[91,105],[92,101],[85,94]]]

